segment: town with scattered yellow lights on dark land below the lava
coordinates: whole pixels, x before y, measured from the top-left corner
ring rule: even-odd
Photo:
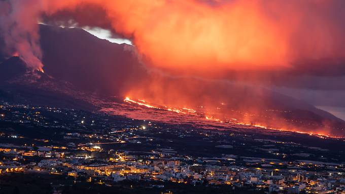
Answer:
[[[12,189],[18,176],[47,176],[56,177],[47,187],[54,194],[121,182],[152,193],[345,193],[345,141],[289,133],[269,138],[2,101],[0,187]]]

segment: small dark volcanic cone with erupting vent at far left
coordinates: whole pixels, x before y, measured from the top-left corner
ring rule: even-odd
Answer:
[[[95,107],[68,91],[70,84],[58,81],[47,73],[27,68],[19,57],[0,63],[0,100],[10,103],[94,110]]]

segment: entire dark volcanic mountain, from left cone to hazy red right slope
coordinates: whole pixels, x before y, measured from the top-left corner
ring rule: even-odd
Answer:
[[[45,73],[26,69],[19,57],[3,61],[0,63],[3,99],[100,109],[99,104],[93,104],[95,96],[108,100],[117,96],[122,102],[131,94],[162,107],[198,109],[199,115],[224,121],[233,119],[268,128],[345,134],[345,122],[334,115],[268,89],[164,74],[146,66],[133,46],[100,40],[80,28],[40,25],[40,35]]]

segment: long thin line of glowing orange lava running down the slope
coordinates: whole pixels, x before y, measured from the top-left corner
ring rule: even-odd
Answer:
[[[141,105],[141,106],[146,106],[148,108],[156,108],[156,109],[173,111],[173,112],[177,112],[177,113],[190,114],[190,115],[201,115],[196,110],[193,110],[190,108],[153,106],[153,105],[148,104],[148,102],[146,102],[145,100],[142,100],[142,99],[138,99],[138,101],[134,101],[134,100],[130,99],[129,97],[126,97],[123,101],[127,102],[129,104],[137,104],[137,105]],[[329,134],[325,135],[325,134],[307,133],[307,132],[300,132],[300,131],[289,131],[289,130],[284,130],[284,129],[275,129],[275,128],[270,128],[270,127],[265,127],[263,125],[258,125],[258,124],[241,123],[241,122],[238,122],[236,119],[231,119],[232,121],[228,121],[228,120],[222,121],[221,119],[215,118],[213,116],[205,116],[204,119],[209,120],[209,121],[219,122],[219,123],[229,123],[229,124],[234,124],[234,125],[256,127],[256,128],[261,128],[261,129],[267,129],[267,130],[277,130],[277,131],[282,131],[282,132],[295,132],[295,133],[300,133],[300,134],[307,134],[310,136],[315,136],[315,137],[319,137],[319,138],[323,138],[323,139],[325,139],[325,138],[343,138],[343,137],[331,136]]]

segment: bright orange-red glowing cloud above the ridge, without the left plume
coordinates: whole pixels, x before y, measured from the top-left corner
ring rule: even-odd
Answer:
[[[218,2],[69,0],[43,7],[48,14],[81,4],[104,8],[111,27],[161,68],[276,69],[345,57],[344,29],[329,13],[337,1]]]

